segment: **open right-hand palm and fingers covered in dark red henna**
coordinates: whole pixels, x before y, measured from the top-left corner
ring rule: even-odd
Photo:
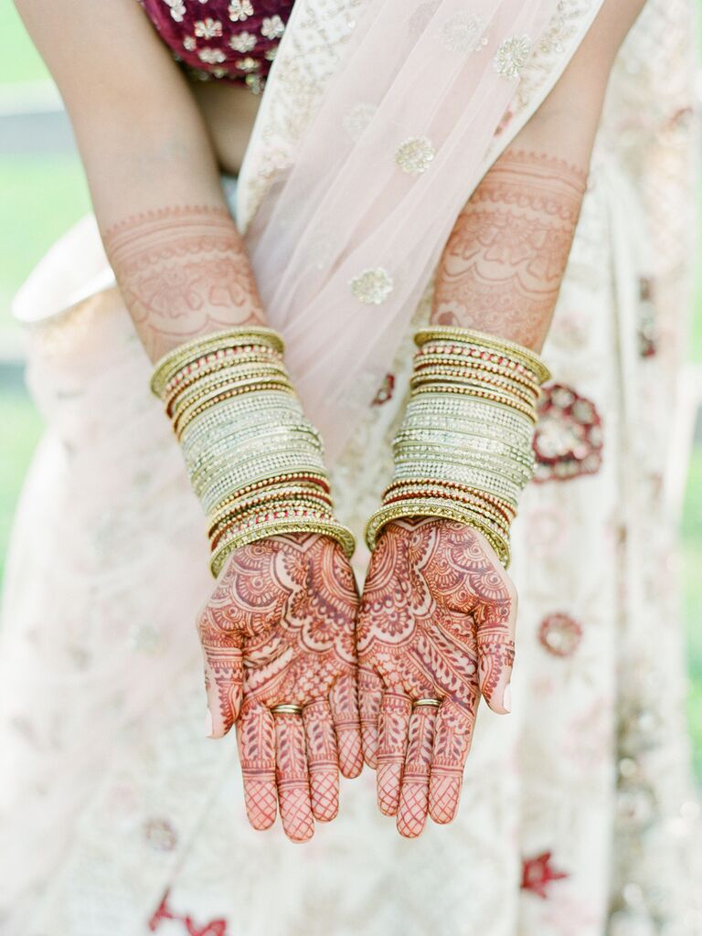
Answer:
[[[361,598],[363,753],[378,806],[419,835],[456,814],[482,694],[504,713],[517,595],[490,544],[445,519],[400,519],[378,538]],[[420,698],[440,708],[417,707]]]

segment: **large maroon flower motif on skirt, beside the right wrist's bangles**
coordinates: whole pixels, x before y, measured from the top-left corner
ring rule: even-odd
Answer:
[[[594,403],[562,384],[544,388],[534,454],[537,483],[596,474],[602,465],[602,421]]]

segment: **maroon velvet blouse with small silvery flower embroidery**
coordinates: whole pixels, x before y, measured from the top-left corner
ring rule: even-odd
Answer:
[[[260,94],[294,0],[139,0],[174,57],[198,78]]]

